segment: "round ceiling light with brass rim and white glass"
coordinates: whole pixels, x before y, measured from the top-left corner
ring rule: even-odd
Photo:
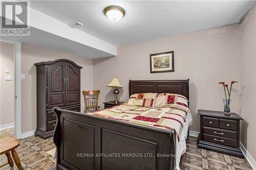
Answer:
[[[114,5],[106,7],[103,13],[112,21],[119,21],[125,15],[123,8]]]

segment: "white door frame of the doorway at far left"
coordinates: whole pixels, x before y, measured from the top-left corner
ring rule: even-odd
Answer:
[[[14,137],[22,138],[22,44],[7,38],[0,38],[0,41],[13,44],[14,50]]]

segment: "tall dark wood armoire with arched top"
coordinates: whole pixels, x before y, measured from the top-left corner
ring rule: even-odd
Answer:
[[[53,107],[80,111],[81,66],[67,59],[35,63],[37,128],[35,135],[49,138],[56,125]]]

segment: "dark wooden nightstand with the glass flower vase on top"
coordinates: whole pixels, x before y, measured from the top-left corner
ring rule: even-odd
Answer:
[[[198,148],[244,158],[240,149],[240,120],[236,113],[198,110],[200,134]]]

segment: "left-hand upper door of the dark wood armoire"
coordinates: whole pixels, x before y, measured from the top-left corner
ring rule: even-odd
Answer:
[[[66,105],[65,63],[47,68],[47,108]]]

